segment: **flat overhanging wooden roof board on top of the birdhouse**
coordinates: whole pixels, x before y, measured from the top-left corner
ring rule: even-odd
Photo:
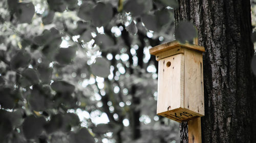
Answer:
[[[177,48],[177,47],[184,47],[184,48],[196,50],[199,52],[205,52],[205,49],[203,46],[189,44],[189,43],[182,44],[179,41],[172,41],[172,42],[164,43],[164,44],[161,44],[161,45],[151,48],[150,54],[156,55],[158,53],[161,53],[161,52],[173,49],[173,48]]]

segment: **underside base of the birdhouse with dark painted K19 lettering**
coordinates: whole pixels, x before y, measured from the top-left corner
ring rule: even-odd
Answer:
[[[191,111],[186,108],[177,108],[177,109],[158,113],[157,115],[169,118],[171,120],[174,120],[180,123],[183,121],[188,121],[188,120],[203,116],[197,112]]]

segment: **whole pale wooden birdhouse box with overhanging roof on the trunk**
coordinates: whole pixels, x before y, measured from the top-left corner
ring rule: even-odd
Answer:
[[[204,116],[204,51],[178,41],[150,49],[158,61],[157,115],[177,122]]]

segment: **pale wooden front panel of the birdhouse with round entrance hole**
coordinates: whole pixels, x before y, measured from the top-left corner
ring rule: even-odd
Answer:
[[[159,61],[157,113],[184,106],[183,61],[184,54],[176,54]]]

